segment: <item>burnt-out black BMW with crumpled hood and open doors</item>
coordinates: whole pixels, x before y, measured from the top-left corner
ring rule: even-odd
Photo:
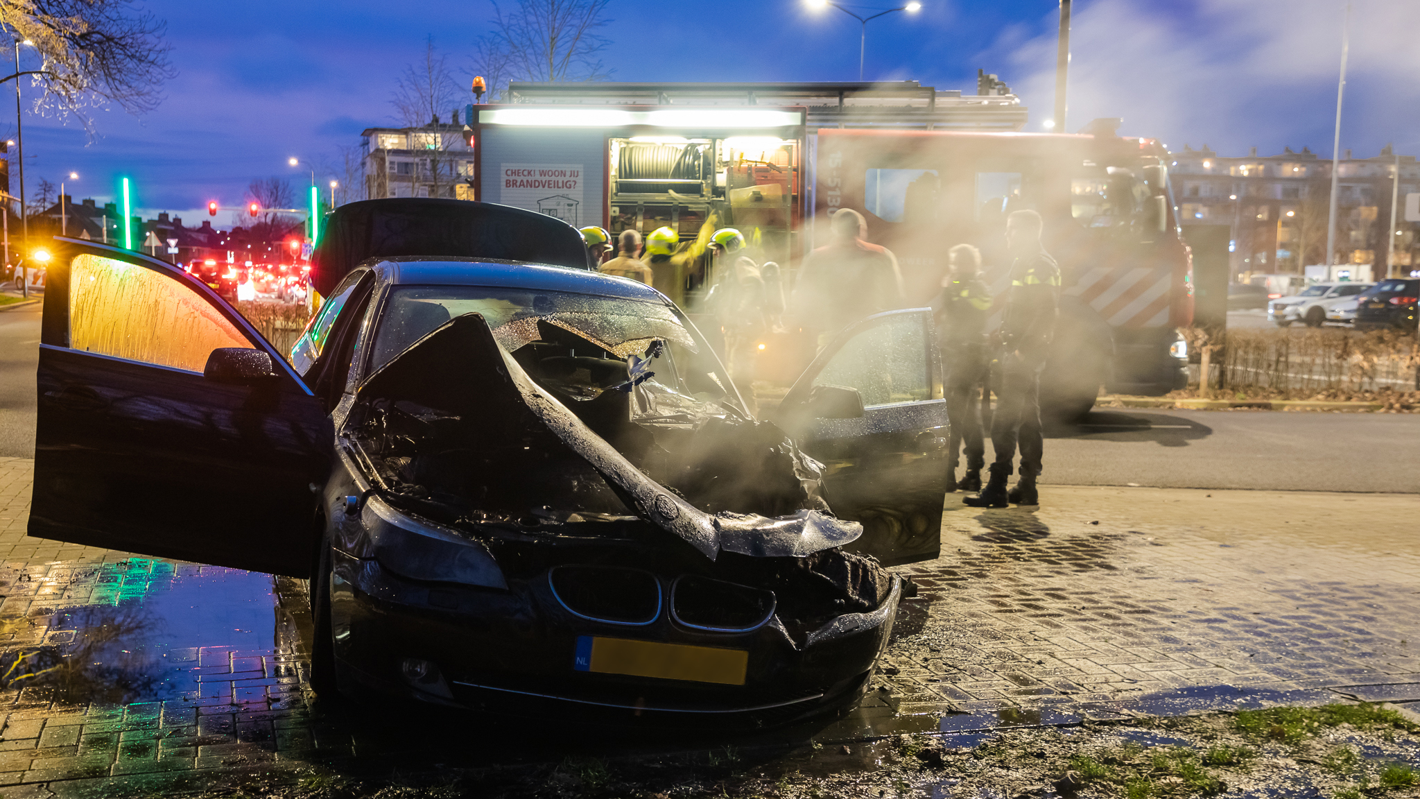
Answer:
[[[322,697],[737,728],[856,701],[883,564],[940,547],[930,310],[849,327],[757,419],[655,289],[493,246],[585,260],[575,229],[464,205],[484,257],[366,257],[396,245],[335,210],[356,266],[324,259],[291,363],[192,276],[61,240],[30,535],[310,577]]]

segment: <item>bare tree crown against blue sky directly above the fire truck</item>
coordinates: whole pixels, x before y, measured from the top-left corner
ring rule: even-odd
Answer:
[[[493,3],[494,28],[477,47],[474,68],[488,91],[508,81],[599,81],[611,75],[598,54],[611,47],[599,28],[611,24],[611,0],[511,0]]]

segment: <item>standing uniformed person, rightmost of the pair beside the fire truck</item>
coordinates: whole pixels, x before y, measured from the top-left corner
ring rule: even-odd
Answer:
[[[1017,210],[1005,220],[1011,289],[1001,320],[1001,390],[991,417],[991,478],[974,496],[973,508],[1039,505],[1035,478],[1041,473],[1041,370],[1059,313],[1061,270],[1041,245],[1041,215]],[[1007,492],[1015,446],[1021,446],[1021,478]]]

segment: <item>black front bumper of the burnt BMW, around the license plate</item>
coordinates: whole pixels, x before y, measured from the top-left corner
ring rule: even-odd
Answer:
[[[676,624],[663,608],[628,627],[569,613],[547,574],[508,590],[422,583],[376,560],[335,552],[331,614],[342,691],[364,688],[466,709],[582,715],[619,724],[765,726],[856,701],[886,648],[902,581],[879,608],[846,614],[808,636],[774,616],[746,633]],[[578,638],[612,637],[746,650],[744,685],[601,674],[574,668]],[[433,668],[410,675],[405,663]]]

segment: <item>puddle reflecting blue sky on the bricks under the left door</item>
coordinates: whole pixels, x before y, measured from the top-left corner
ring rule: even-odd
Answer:
[[[260,657],[274,648],[268,574],[217,567],[178,574],[172,563],[131,559],[67,577],[54,580],[54,589],[61,596],[88,593],[89,601],[67,606],[61,599],[53,610],[34,608],[27,620],[47,624],[48,633],[37,645],[0,654],[0,688],[65,704],[197,698],[204,665],[230,672],[224,664],[199,664],[199,650]],[[26,581],[33,580],[17,583]]]

